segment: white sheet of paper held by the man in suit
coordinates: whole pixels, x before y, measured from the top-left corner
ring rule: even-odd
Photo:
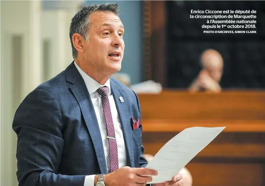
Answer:
[[[157,176],[152,176],[149,183],[161,183],[172,180],[190,160],[205,148],[226,127],[192,127],[180,132],[168,141],[154,156],[146,168],[154,169]]]

